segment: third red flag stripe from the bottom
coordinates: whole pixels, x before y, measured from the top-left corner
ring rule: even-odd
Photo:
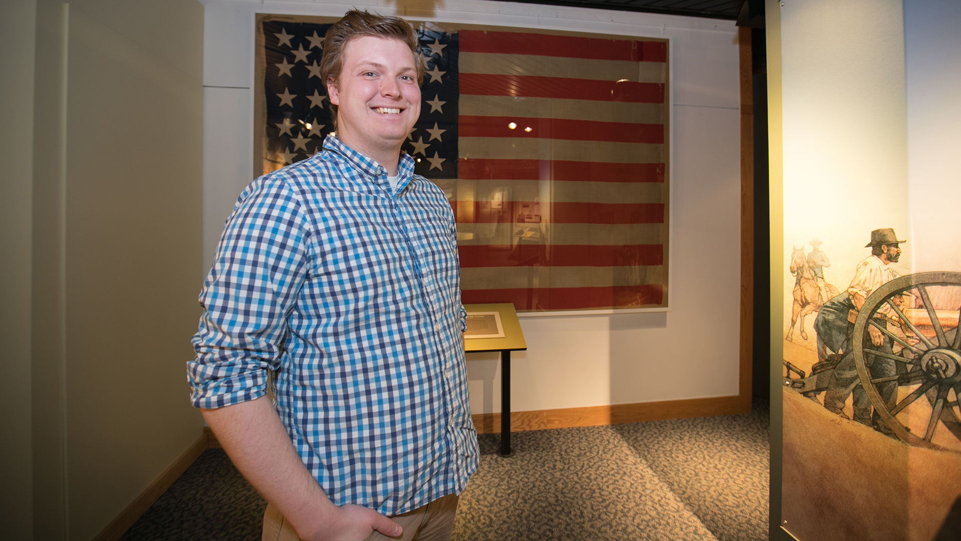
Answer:
[[[535,204],[550,205],[552,223],[663,223],[664,203],[535,203],[504,201],[492,209],[490,201],[451,201],[457,223],[510,223],[516,215],[532,214]],[[527,205],[527,208],[524,208]],[[474,208],[471,209],[471,206]],[[470,213],[473,210],[473,217]]]

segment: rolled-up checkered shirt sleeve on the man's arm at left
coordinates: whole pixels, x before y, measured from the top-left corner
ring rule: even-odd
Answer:
[[[307,275],[308,231],[282,175],[261,177],[240,194],[199,297],[204,313],[186,367],[195,407],[266,394]]]

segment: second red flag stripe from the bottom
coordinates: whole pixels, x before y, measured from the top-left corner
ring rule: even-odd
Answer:
[[[462,269],[480,267],[632,267],[663,265],[663,245],[458,245]]]

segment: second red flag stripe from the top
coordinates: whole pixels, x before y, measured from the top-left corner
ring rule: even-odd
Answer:
[[[662,83],[599,81],[535,75],[460,73],[460,93],[471,95],[551,97],[595,101],[664,103]]]

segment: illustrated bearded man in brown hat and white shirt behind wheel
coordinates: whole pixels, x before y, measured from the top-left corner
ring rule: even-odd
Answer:
[[[850,310],[848,317],[848,343],[844,347],[846,351],[844,358],[834,368],[834,374],[825,393],[825,408],[841,416],[845,416],[843,413],[845,401],[853,394],[854,421],[864,425],[873,425],[876,430],[883,433],[892,433],[892,431],[887,425],[884,425],[876,412],[872,415],[871,400],[868,399],[860,385],[857,369],[854,367],[854,357],[850,352],[851,333],[853,332],[853,322],[857,317],[857,311],[864,306],[864,301],[868,296],[871,296],[883,284],[898,277],[898,272],[892,269],[890,265],[898,263],[901,253],[899,245],[905,242],[907,241],[898,239],[894,229],[886,227],[872,231],[871,242],[864,245],[866,248],[871,248],[871,255],[857,264],[854,270],[854,278],[850,281],[850,286],[846,292],[850,298],[850,303],[854,307]],[[878,313],[887,314],[890,311],[890,306],[883,306],[878,310]],[[892,353],[893,345],[890,338],[884,336],[874,326],[869,326],[868,331],[871,335],[871,342],[875,347],[882,347],[884,351]],[[876,357],[870,370],[873,377],[886,377],[897,374],[898,368],[894,361]],[[890,403],[889,408],[893,408],[895,405],[893,400],[896,399],[898,390],[897,381],[879,384],[877,390],[881,398]]]

